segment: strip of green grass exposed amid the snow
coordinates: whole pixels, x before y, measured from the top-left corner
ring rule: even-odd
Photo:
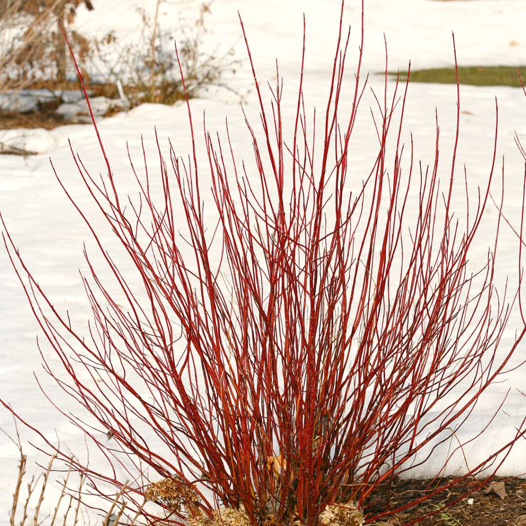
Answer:
[[[468,66],[459,67],[460,84],[471,86],[512,86],[520,88],[517,69],[523,82],[526,82],[526,66]],[[396,72],[389,72],[396,76]],[[407,71],[400,72],[400,79],[407,78]],[[410,82],[429,82],[434,84],[456,84],[454,68],[433,68],[411,70]]]

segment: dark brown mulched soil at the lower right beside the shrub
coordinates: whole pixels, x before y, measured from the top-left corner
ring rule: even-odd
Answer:
[[[439,481],[440,485],[448,479]],[[420,497],[430,480],[396,480],[391,489],[391,509]],[[492,482],[503,482],[506,496],[504,498],[493,491],[485,494],[489,483],[463,498],[461,501],[451,505],[443,512],[423,519],[419,522],[422,526],[526,526],[526,479],[511,477],[494,477]],[[437,484],[437,481],[435,481]],[[467,480],[454,488],[434,495],[430,499],[418,504],[416,507],[395,516],[378,520],[371,524],[375,526],[401,526],[409,524],[418,517],[424,517],[432,511],[443,507],[444,504],[458,499],[468,491],[472,491],[480,482]],[[372,513],[385,510],[387,492],[377,492],[375,502],[368,508],[368,517]],[[473,499],[473,501],[468,500]],[[471,502],[471,503],[470,503]]]

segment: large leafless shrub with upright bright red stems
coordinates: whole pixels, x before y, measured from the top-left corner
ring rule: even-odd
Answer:
[[[157,193],[146,154],[144,177],[132,163],[140,194],[134,200],[119,193],[94,122],[106,175],[99,181],[77,156],[75,163],[136,278],[117,267],[57,175],[120,289],[117,298],[86,256],[90,338],[53,306],[5,237],[66,380],[48,370],[95,423],[82,415],[72,420],[113,467],[125,467],[131,479],[148,467],[151,482],[165,479],[159,488],[175,492],[160,497],[157,486],[148,493],[145,485],[127,485],[130,506],[145,493],[157,495],[157,511],[143,512],[148,521],[211,518],[219,506],[241,510],[254,526],[316,526],[334,504],[367,512],[376,490],[451,440],[524,336],[521,328],[511,348],[499,348],[510,315],[493,286],[500,214],[487,264],[476,272],[468,265],[495,151],[477,206],[469,209],[467,195],[465,221],[457,220],[451,203],[460,105],[450,177],[441,185],[438,123],[431,167],[417,167],[412,139],[409,147],[402,143],[407,82],[401,96],[398,82],[389,95],[386,74],[377,99],[376,159],[363,179],[350,180],[351,137],[367,82],[363,8],[351,90],[343,82],[348,43],[340,18],[321,117],[305,109],[302,58],[291,122],[282,118],[278,72],[266,105],[250,58],[261,117],[260,130],[246,122],[251,165],[239,161],[229,136],[221,140],[206,127],[206,168],[200,164],[200,134],[187,102],[189,161],[171,148],[168,167],[159,147]],[[305,37],[303,49],[302,57]],[[352,98],[352,110],[341,122],[344,96]],[[320,118],[321,137],[314,134]],[[205,187],[211,199],[204,199]],[[416,214],[408,218],[410,206]],[[109,441],[100,438],[106,433]],[[494,471],[521,434],[497,444],[463,476],[437,476],[428,493],[407,505],[390,506],[388,497],[384,511],[369,513],[366,522]],[[69,460],[95,487],[124,484],[117,469]]]

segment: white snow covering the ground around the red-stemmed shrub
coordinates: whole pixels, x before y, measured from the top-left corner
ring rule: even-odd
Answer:
[[[104,33],[115,29],[117,35],[129,38],[137,31],[139,16],[130,4],[132,0],[99,2],[94,0],[95,10],[88,13],[79,11],[76,23],[87,33]],[[146,9],[153,9],[154,2],[137,2]],[[182,10],[188,19],[194,16],[199,2],[182,2],[163,6],[161,25],[168,27],[175,21],[177,27],[178,11]],[[275,58],[279,59],[280,73],[285,79],[284,114],[285,119],[295,110],[295,93],[301,56],[302,13],[307,21],[306,81],[305,96],[311,107],[321,107],[329,82],[329,72],[335,48],[335,37],[339,17],[339,0],[216,0],[211,5],[208,18],[208,45],[216,43],[230,46],[235,44],[237,56],[245,57],[244,44],[240,41],[240,27],[237,10],[244,20],[255,60],[258,77],[272,80],[275,72]],[[358,55],[360,30],[360,3],[348,0],[345,6],[345,22],[351,24],[349,55],[349,86]],[[390,69],[406,68],[411,59],[413,68],[450,66],[453,60],[451,31],[454,31],[459,64],[511,64],[524,62],[526,37],[524,37],[526,4],[522,0],[459,0],[440,2],[433,0],[366,0],[365,16],[365,55],[364,69],[371,73],[383,70],[385,51],[383,33],[389,48]],[[370,85],[381,92],[383,79],[371,75]],[[251,88],[250,72],[247,64],[238,73],[228,78],[228,83],[241,92]],[[392,88],[392,82],[390,83]],[[520,198],[523,160],[513,142],[513,132],[526,142],[526,98],[519,89],[507,87],[461,86],[460,143],[458,152],[458,175],[462,177],[462,164],[466,164],[468,180],[472,188],[484,184],[491,166],[494,135],[495,96],[499,105],[498,157],[505,157],[505,200],[504,209],[508,219],[515,225],[520,218]],[[351,96],[343,97],[341,115],[349,113]],[[191,100],[195,116],[206,110],[209,129],[224,130],[225,117],[228,116],[232,143],[237,155],[251,159],[251,145],[235,97],[222,92],[211,91],[203,98]],[[352,173],[357,177],[369,172],[376,155],[376,135],[368,106],[373,104],[370,92],[362,102],[357,129],[351,146]],[[450,85],[412,84],[406,107],[404,139],[409,132],[414,135],[416,157],[426,165],[432,161],[434,151],[434,108],[438,108],[441,129],[442,172],[447,174],[448,163],[454,138],[454,118],[456,117],[456,88]],[[257,123],[257,105],[254,92],[246,97],[245,108],[251,122]],[[131,154],[138,155],[140,137],[144,136],[151,164],[156,163],[154,126],[160,137],[160,144],[167,153],[168,138],[176,152],[184,155],[189,151],[187,112],[183,105],[165,107],[142,105],[129,113],[99,121],[99,128],[112,163],[114,173],[121,188],[132,188],[133,181],[126,155],[126,142]],[[10,131],[9,133],[14,133]],[[24,133],[21,131],[20,133]],[[0,156],[0,211],[4,216],[12,236],[31,267],[39,284],[46,290],[57,307],[68,309],[73,323],[85,323],[89,316],[84,289],[78,275],[78,268],[85,268],[83,242],[88,240],[82,220],[69,205],[62,190],[56,183],[49,157],[58,173],[63,177],[68,189],[82,208],[91,209],[89,196],[83,189],[76,173],[67,140],[72,142],[92,174],[104,170],[103,159],[97,140],[89,125],[66,126],[52,131],[37,130],[28,133],[33,141],[27,149],[40,151],[42,155],[32,157]],[[0,140],[1,137],[0,137]],[[198,141],[203,151],[203,141]],[[460,179],[461,180],[461,179]],[[498,180],[494,186],[499,191]],[[457,203],[462,203],[462,185],[457,187]],[[95,217],[95,216],[94,216]],[[483,228],[489,228],[495,219],[495,211],[490,210],[488,221]],[[96,218],[95,225],[102,226],[102,219]],[[489,225],[489,226],[488,226]],[[477,254],[483,256],[487,251],[489,237],[478,238]],[[111,238],[108,236],[109,241]],[[103,238],[104,240],[104,238]],[[511,279],[517,275],[517,238],[503,226],[499,244],[497,282],[503,284],[506,275]],[[501,345],[507,351],[514,332],[520,328],[520,318],[515,313],[509,322]],[[40,366],[35,339],[38,328],[24,298],[23,291],[8,262],[5,251],[0,251],[0,397],[11,403],[33,426],[40,429],[50,439],[55,434],[62,443],[78,454],[84,450],[84,437],[72,428],[44,398],[39,390],[34,372],[43,388],[59,397],[61,407],[74,410],[71,401],[63,399],[54,382]],[[517,360],[526,359],[526,343],[517,352]],[[502,355],[502,354],[501,354]],[[51,363],[57,359],[50,355]],[[480,429],[487,422],[505,393],[510,390],[503,411],[487,432],[464,450],[470,467],[494,451],[495,446],[509,439],[524,414],[526,397],[517,389],[524,391],[525,369],[510,372],[504,381],[491,388],[480,400],[476,411],[470,418],[464,435]],[[8,411],[0,411],[0,427],[14,433],[12,419]],[[24,440],[41,441],[22,429]],[[455,444],[453,444],[454,447]],[[415,476],[436,474],[443,463],[438,451]],[[39,472],[35,460],[42,461],[42,454],[29,446],[29,472]],[[0,436],[0,524],[7,519],[7,510],[16,477],[16,449],[11,442]],[[453,461],[448,470],[462,469],[460,456]],[[522,474],[526,472],[526,441],[520,441],[500,469],[502,474]]]

